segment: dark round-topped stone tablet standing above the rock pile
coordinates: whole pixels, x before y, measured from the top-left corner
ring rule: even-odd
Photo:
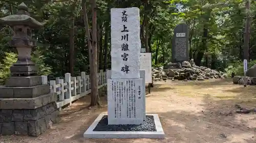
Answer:
[[[177,25],[174,29],[172,42],[172,62],[182,63],[189,60],[188,26],[185,23]]]

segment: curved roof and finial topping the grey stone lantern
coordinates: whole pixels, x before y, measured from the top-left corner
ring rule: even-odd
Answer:
[[[15,25],[28,25],[31,28],[37,28],[44,26],[45,23],[38,22],[34,18],[30,17],[28,7],[22,3],[18,6],[18,12],[14,15],[9,15],[0,18],[0,23],[10,26]]]

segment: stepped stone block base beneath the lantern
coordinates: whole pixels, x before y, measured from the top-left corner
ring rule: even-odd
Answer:
[[[0,91],[0,134],[39,136],[58,121],[57,94],[41,76],[10,77]]]

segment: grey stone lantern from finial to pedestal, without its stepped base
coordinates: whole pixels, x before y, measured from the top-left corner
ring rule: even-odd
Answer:
[[[36,47],[35,40],[31,38],[31,28],[41,27],[44,23],[30,17],[24,3],[18,6],[17,14],[0,18],[0,23],[10,25],[14,31],[10,46],[16,47],[18,60],[10,68],[11,76],[36,75],[37,69],[31,61],[31,50]]]

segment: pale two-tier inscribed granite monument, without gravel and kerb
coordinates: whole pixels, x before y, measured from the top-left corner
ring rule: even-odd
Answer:
[[[109,124],[143,123],[145,92],[142,90],[144,77],[140,78],[140,48],[139,9],[111,9]]]

